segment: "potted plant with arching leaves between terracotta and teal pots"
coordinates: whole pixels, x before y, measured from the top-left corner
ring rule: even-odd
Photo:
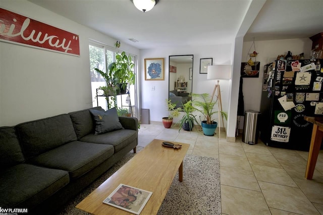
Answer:
[[[195,118],[196,115],[193,115],[193,111],[195,109],[192,106],[192,101],[188,101],[186,104],[184,104],[182,110],[184,111],[184,115],[182,119],[180,119],[176,123],[180,126],[180,129],[178,130],[178,132],[180,132],[182,128],[186,131],[191,131],[194,127],[194,122],[199,124]]]

